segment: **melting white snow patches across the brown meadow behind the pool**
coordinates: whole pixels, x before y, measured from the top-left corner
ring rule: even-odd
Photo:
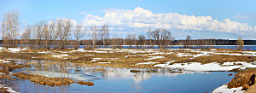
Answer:
[[[9,49],[3,49],[0,48],[0,50],[6,50],[8,52],[12,53],[18,53],[21,50],[26,49],[20,49],[20,48],[9,48]],[[163,49],[162,49],[163,50]],[[172,59],[169,61],[166,61],[166,63],[160,63],[156,62],[154,60],[158,59],[164,59],[164,55],[177,55],[177,57],[183,57],[183,56],[190,56],[189,59],[195,59],[199,56],[207,56],[207,55],[245,55],[245,56],[256,56],[256,51],[228,51],[228,50],[218,50],[218,49],[165,49],[165,51],[160,51],[160,49],[110,49],[110,48],[99,48],[99,49],[92,49],[92,50],[84,50],[84,49],[75,49],[70,51],[55,51],[58,52],[58,55],[53,55],[53,52],[43,50],[35,53],[39,54],[49,54],[52,55],[54,58],[64,59],[67,60],[70,55],[68,53],[73,52],[86,52],[86,53],[96,53],[96,54],[102,54],[102,53],[119,53],[119,52],[127,52],[128,55],[125,55],[124,58],[129,57],[142,57],[147,56],[148,58],[142,59],[145,62],[137,63],[137,65],[145,65],[145,64],[154,64],[154,67],[170,67],[170,68],[177,68],[177,69],[183,69],[184,71],[199,71],[199,72],[205,72],[205,71],[229,71],[235,68],[241,68],[244,69],[246,67],[256,67],[256,61],[247,63],[246,61],[227,61],[224,62],[224,64],[219,64],[217,62],[207,63],[207,64],[201,64],[200,62],[187,62],[187,63],[174,63],[170,65],[170,63],[175,62]],[[140,53],[140,54],[137,54]],[[142,53],[142,54],[141,54]],[[134,55],[133,55],[134,54]],[[112,59],[117,60],[120,58],[95,58],[96,55],[84,55],[84,56],[90,56],[92,57],[91,61],[95,61],[97,63],[108,63],[112,64],[112,61],[99,61],[101,59]],[[72,56],[71,56],[72,57]],[[32,57],[35,58],[35,57]],[[0,60],[0,62],[8,63],[10,61],[6,60]],[[238,65],[240,64],[240,65]]]

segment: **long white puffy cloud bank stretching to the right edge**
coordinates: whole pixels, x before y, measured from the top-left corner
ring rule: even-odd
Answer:
[[[85,15],[85,26],[124,26],[152,27],[181,30],[197,30],[212,32],[247,33],[255,32],[255,27],[231,21],[230,19],[216,20],[212,16],[179,15],[177,13],[154,14],[148,9],[137,7],[131,9],[105,9],[105,15]]]

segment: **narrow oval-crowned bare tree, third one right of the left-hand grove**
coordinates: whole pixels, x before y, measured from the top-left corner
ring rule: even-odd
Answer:
[[[107,39],[109,37],[108,25],[104,24],[101,28],[100,37],[102,39],[103,45],[108,44]]]

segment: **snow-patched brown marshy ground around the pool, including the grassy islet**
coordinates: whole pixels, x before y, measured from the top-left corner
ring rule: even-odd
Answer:
[[[25,60],[18,63],[15,59]],[[63,84],[94,83],[73,79],[70,67],[96,67],[93,72],[108,72],[113,68],[172,68],[170,73],[231,71],[256,67],[256,51],[231,49],[1,49],[1,78],[29,79],[38,84],[60,86]],[[10,73],[15,69],[34,71]],[[76,69],[75,71],[80,71]],[[131,70],[131,73],[155,73],[154,70]],[[232,81],[233,82],[233,81]],[[231,83],[230,83],[231,84]],[[244,84],[236,85],[241,87]],[[253,84],[252,84],[253,85]],[[231,87],[229,87],[231,88]]]

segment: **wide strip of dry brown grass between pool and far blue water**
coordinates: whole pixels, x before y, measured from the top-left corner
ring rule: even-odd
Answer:
[[[60,53],[59,51],[71,51],[73,49],[51,49],[49,50],[51,53],[56,53],[55,55],[62,55],[63,53]],[[91,50],[91,49],[86,49]],[[141,49],[138,49],[141,50]],[[233,49],[217,49],[218,51],[227,51],[229,53],[239,53],[241,54],[241,51],[239,50],[233,50]],[[228,61],[256,61],[256,57],[254,56],[239,56],[239,55],[205,55],[205,56],[199,56],[195,59],[190,59],[192,56],[182,56],[178,57],[177,53],[185,53],[190,55],[197,55],[199,53],[184,50],[184,49],[155,49],[155,52],[174,52],[173,54],[161,54],[161,55],[148,55],[150,53],[130,53],[130,52],[115,52],[112,50],[107,50],[110,53],[96,53],[96,52],[69,52],[65,53],[68,56],[63,56],[61,58],[55,58],[51,54],[38,54],[38,51],[40,50],[26,50],[30,52],[35,53],[9,53],[9,52],[2,52],[0,53],[0,58],[19,58],[19,59],[26,59],[31,60],[32,57],[36,57],[36,60],[46,60],[46,61],[62,61],[62,62],[73,62],[73,63],[82,63],[86,66],[94,67],[94,66],[102,66],[102,67],[121,67],[121,68],[152,68],[155,64],[144,64],[144,65],[137,65],[137,63],[147,62],[147,61],[154,61],[154,62],[160,62],[165,63],[166,61],[174,60],[177,62],[201,62],[201,63],[210,63],[210,62],[228,62]],[[98,50],[97,51],[101,51]],[[102,50],[106,51],[106,50]],[[204,51],[210,51],[209,49],[204,49]],[[136,56],[129,56],[125,57],[126,55],[136,55]],[[149,56],[165,56],[165,58],[159,58],[154,60],[145,60],[148,59]],[[93,58],[102,58],[97,61],[92,61]],[[111,59],[111,58],[119,58],[119,59]],[[110,64],[102,64],[98,62],[111,62]],[[31,63],[34,64],[34,63]],[[84,65],[83,65],[84,67]]]

